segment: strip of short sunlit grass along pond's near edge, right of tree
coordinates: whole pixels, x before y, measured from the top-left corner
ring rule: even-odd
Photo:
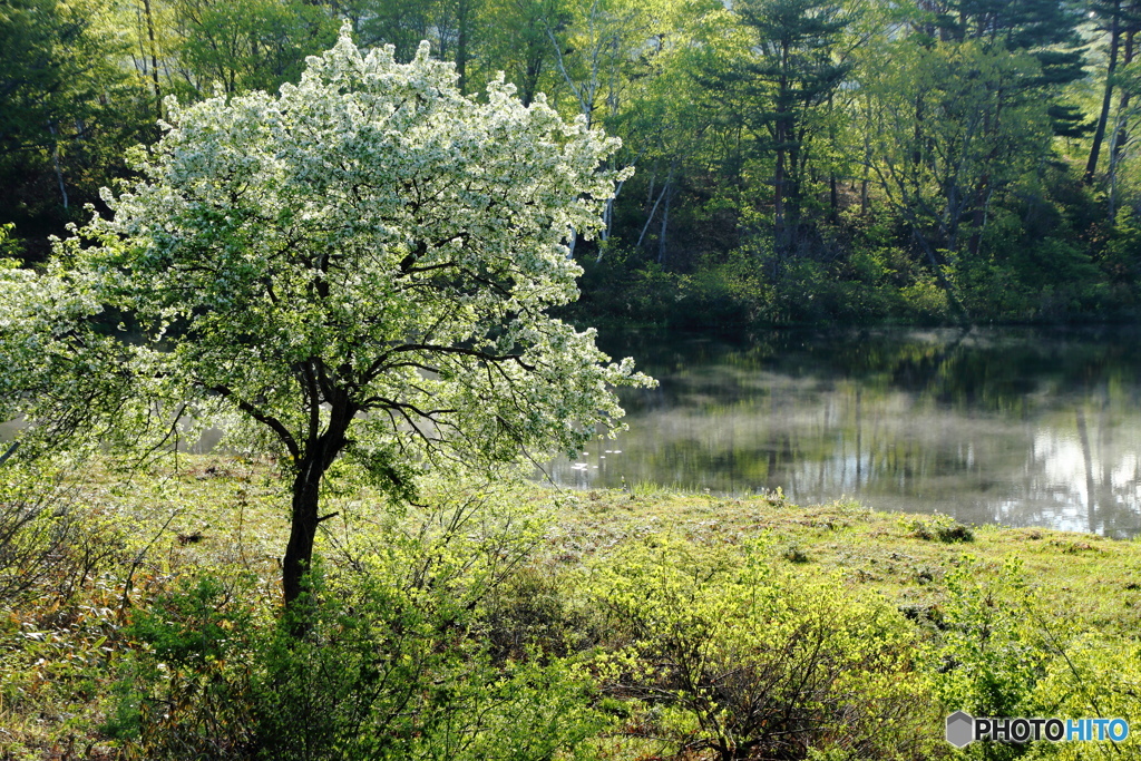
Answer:
[[[558,524],[550,552],[567,564],[647,534],[713,547],[767,534],[799,565],[840,572],[847,583],[882,592],[900,606],[941,605],[944,577],[964,554],[996,568],[1018,557],[1050,608],[1107,634],[1141,630],[1141,543],[1135,541],[979,526],[971,541],[945,542],[916,531],[917,524],[944,525],[940,517],[880,512],[851,500],[801,507],[779,496],[725,499],[664,489],[646,496],[572,494]]]

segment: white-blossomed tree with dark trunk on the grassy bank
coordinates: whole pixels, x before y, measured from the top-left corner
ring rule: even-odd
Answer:
[[[448,458],[573,451],[621,416],[610,388],[649,379],[545,314],[577,296],[565,236],[599,227],[617,140],[454,81],[427,44],[400,65],[342,32],[277,97],[168,100],[113,216],[43,273],[0,269],[0,413],[27,448],[153,447],[185,405],[267,442],[292,475],[289,604],[338,458],[407,494]]]

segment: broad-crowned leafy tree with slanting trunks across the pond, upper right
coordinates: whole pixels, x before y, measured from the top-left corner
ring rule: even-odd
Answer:
[[[974,42],[904,41],[891,57],[898,79],[868,87],[880,114],[874,168],[950,290],[946,267],[978,254],[995,194],[1046,151],[1045,105],[1022,88],[1037,67]]]

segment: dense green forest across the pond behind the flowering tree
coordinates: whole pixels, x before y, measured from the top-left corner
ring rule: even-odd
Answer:
[[[622,138],[570,316],[742,330],[1130,319],[1133,0],[6,0],[0,241],[43,261],[164,98],[296,81],[342,23]]]

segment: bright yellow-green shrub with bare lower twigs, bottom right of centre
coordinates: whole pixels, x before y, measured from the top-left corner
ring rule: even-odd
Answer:
[[[679,752],[717,758],[920,753],[932,738],[916,641],[883,600],[770,562],[653,537],[594,569],[613,628],[608,691]]]

